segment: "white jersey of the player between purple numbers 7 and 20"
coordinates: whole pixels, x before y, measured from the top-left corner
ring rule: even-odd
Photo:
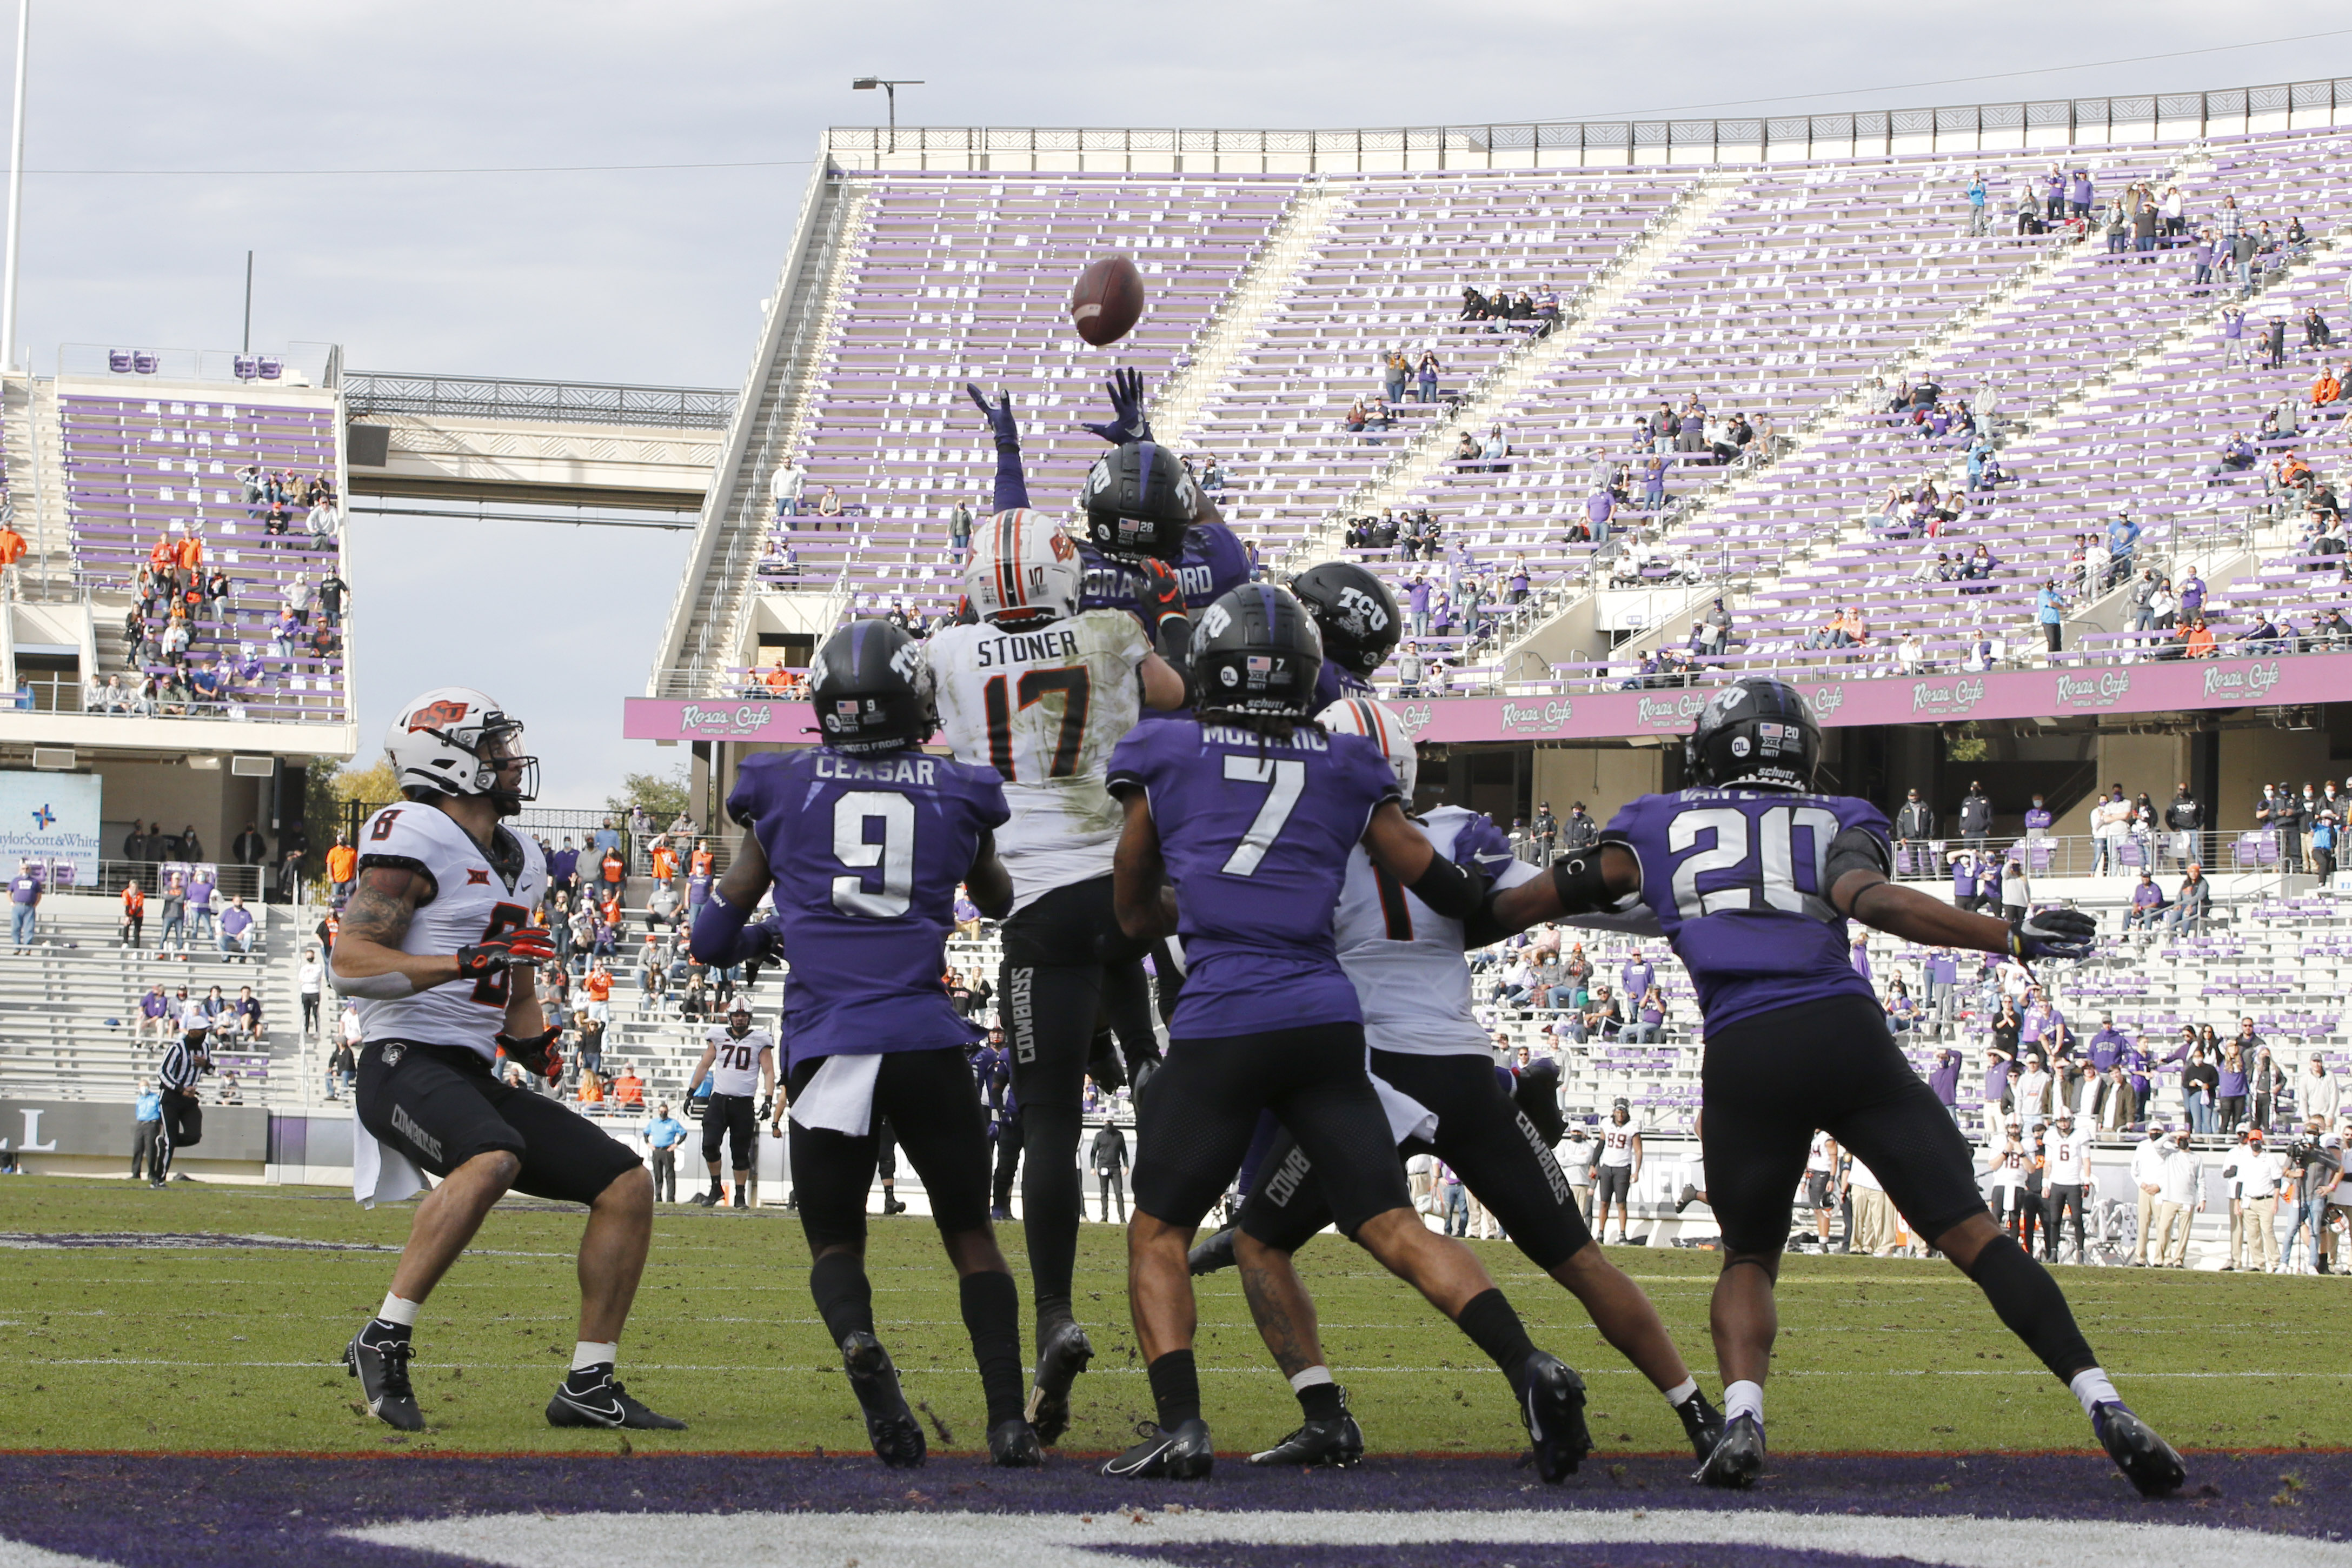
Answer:
[[[1437,806],[1421,830],[1430,849],[1454,858],[1454,842],[1482,820],[1463,806]],[[1501,853],[1501,851],[1498,851]],[[1508,853],[1479,865],[1494,886],[1536,879],[1536,867]],[[1430,910],[1395,877],[1378,870],[1364,846],[1348,851],[1348,882],[1334,914],[1338,961],[1364,1006],[1364,1041],[1378,1051],[1416,1056],[1491,1053],[1494,1041],[1470,1016],[1470,964],[1463,924]]]

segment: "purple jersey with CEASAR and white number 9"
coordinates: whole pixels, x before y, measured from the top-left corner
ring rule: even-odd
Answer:
[[[786,1063],[969,1046],[941,976],[955,889],[1000,827],[995,769],[830,748],[743,759],[727,811],[748,816],[776,879]]]

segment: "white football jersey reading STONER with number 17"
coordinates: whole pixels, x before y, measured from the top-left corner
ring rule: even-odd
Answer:
[[[1014,907],[1110,875],[1124,813],[1103,769],[1143,712],[1136,670],[1152,651],[1124,609],[1089,609],[1037,630],[950,625],[931,632],[922,684],[957,762],[1004,778],[1011,820],[997,856]]]

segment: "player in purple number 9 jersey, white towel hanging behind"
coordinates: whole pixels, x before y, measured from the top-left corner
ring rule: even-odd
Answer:
[[[866,1279],[875,1124],[889,1117],[960,1276],[988,1453],[1040,1465],[1021,1413],[1021,1291],[988,1225],[985,1119],[964,1065],[981,1032],[938,983],[957,884],[993,919],[1011,907],[993,842],[1009,811],[990,769],[922,755],[931,705],[915,689],[920,665],[922,649],[887,621],[851,621],[816,651],[809,701],[823,743],[743,762],[727,813],[750,832],[694,922],[694,957],[741,964],[781,943],[793,964],[783,1051],[809,1291],[875,1455],[924,1460]],[[774,924],[746,931],[769,889]]]

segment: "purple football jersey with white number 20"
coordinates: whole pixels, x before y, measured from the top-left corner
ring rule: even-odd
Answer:
[[[1691,971],[1708,1027],[1820,997],[1872,997],[1830,907],[1830,839],[1860,827],[1886,844],[1886,816],[1844,795],[1682,790],[1644,795],[1609,823],[1642,860],[1642,903]]]

